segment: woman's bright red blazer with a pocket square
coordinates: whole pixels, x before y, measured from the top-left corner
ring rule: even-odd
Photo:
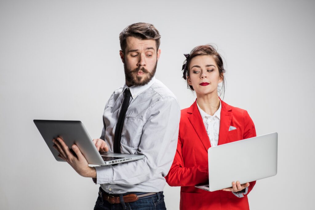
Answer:
[[[222,100],[221,105],[218,145],[256,136],[254,123],[247,111],[230,106]],[[237,129],[229,131],[230,126]],[[228,191],[208,192],[194,187],[196,184],[206,183],[209,179],[210,146],[195,101],[189,108],[181,110],[177,150],[169,174],[165,177],[170,186],[181,186],[180,209],[249,209],[247,195],[253,189],[255,181],[250,182],[249,192],[243,198],[238,198]]]

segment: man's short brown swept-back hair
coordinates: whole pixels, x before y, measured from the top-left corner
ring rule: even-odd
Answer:
[[[120,48],[125,53],[127,46],[127,37],[135,37],[138,39],[154,39],[156,43],[157,50],[160,47],[161,35],[157,29],[150,23],[134,23],[127,26],[120,34]]]

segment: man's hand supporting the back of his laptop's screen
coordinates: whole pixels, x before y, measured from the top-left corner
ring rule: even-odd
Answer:
[[[69,147],[65,144],[65,142],[58,137],[57,139],[53,139],[54,149],[59,152],[58,157],[65,160],[70,164],[70,166],[81,176],[83,177],[91,177],[96,178],[96,170],[94,167],[89,167],[89,164],[85,157],[82,155],[81,151],[77,147],[77,145],[72,145],[72,150],[75,152],[76,156],[72,154]]]

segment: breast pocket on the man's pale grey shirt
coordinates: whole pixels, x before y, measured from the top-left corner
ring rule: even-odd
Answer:
[[[121,133],[121,144],[129,147],[138,148],[143,129],[142,117],[126,116],[123,122],[123,130]]]

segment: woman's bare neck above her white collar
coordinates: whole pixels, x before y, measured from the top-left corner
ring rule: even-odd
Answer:
[[[196,94],[199,107],[208,115],[214,115],[220,107],[218,94]]]

